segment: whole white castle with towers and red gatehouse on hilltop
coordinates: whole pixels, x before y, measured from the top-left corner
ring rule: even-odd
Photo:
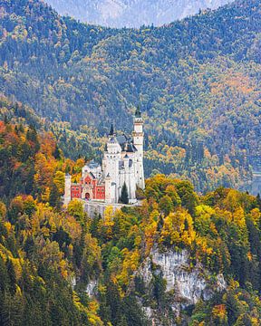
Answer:
[[[121,202],[123,191],[125,191],[125,198],[128,194],[129,204],[137,202],[137,187],[141,189],[145,187],[143,170],[144,134],[140,108],[135,112],[133,124],[132,139],[124,134],[117,136],[111,125],[102,166],[94,161],[86,164],[82,168],[79,184],[72,183],[70,175],[65,176],[65,206],[73,198],[88,202],[118,204]],[[124,190],[122,190],[123,188]]]

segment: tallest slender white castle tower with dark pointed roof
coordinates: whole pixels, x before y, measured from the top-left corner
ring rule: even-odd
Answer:
[[[136,162],[135,162],[136,184],[141,189],[144,189],[145,188],[144,169],[143,169],[144,133],[143,133],[143,120],[141,117],[139,106],[135,112],[133,122],[134,122],[134,131],[132,132],[133,145],[138,150],[136,154]]]

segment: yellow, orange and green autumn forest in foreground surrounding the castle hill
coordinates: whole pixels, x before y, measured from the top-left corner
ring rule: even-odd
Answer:
[[[0,121],[1,325],[149,326],[149,308],[164,325],[260,325],[260,197],[225,187],[198,196],[189,181],[156,175],[140,207],[92,219],[77,200],[64,210],[65,172],[80,177],[84,159],[64,158],[34,111],[12,110],[20,122]],[[149,285],[138,273],[155,248],[186,250],[187,273],[200,265],[211,288],[220,274],[226,288],[171,312],[180,299],[157,265]]]

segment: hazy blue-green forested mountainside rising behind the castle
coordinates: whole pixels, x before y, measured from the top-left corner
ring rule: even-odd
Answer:
[[[68,121],[54,133],[71,157],[77,129],[103,136],[111,120],[131,129],[140,102],[147,176],[156,168],[199,191],[251,177],[261,151],[259,1],[140,30],[79,24],[35,0],[0,5],[1,91],[47,120]]]

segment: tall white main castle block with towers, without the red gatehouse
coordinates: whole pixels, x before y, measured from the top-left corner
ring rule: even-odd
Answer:
[[[129,204],[137,202],[136,189],[144,189],[143,170],[143,120],[138,109],[134,116],[134,130],[132,139],[125,135],[118,136],[111,132],[102,160],[102,170],[105,179],[106,203],[119,203],[121,189],[126,184],[129,195]]]

